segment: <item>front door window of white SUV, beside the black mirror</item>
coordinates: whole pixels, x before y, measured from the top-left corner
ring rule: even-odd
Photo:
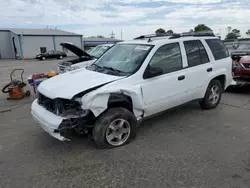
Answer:
[[[160,47],[149,63],[150,67],[159,67],[163,74],[183,68],[179,43],[166,44]]]

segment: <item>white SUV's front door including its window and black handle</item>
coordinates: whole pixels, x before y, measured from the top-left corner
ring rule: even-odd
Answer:
[[[162,75],[145,79],[142,84],[145,116],[153,115],[187,102],[186,75],[183,69],[180,44],[170,43],[160,47],[148,68],[159,67]]]

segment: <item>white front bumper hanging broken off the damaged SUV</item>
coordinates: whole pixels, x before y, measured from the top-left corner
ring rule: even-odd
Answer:
[[[61,136],[60,132],[57,131],[64,118],[56,116],[55,114],[47,111],[37,103],[37,99],[34,100],[31,105],[31,115],[33,119],[54,138],[61,141],[69,140]]]

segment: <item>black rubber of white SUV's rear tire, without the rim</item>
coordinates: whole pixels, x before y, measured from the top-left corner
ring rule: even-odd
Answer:
[[[215,103],[212,103],[209,100],[211,90],[213,87],[218,87],[218,94],[219,94],[218,100]],[[218,104],[220,103],[222,93],[223,93],[223,88],[222,88],[221,82],[219,80],[212,80],[208,85],[205,97],[200,102],[201,108],[203,108],[205,110],[210,110],[210,109],[216,108],[218,106]]]

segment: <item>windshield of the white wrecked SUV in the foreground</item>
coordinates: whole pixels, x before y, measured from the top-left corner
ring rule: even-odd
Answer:
[[[151,48],[152,45],[115,45],[92,66],[97,67],[98,70],[109,69],[118,76],[130,75],[140,67]]]

